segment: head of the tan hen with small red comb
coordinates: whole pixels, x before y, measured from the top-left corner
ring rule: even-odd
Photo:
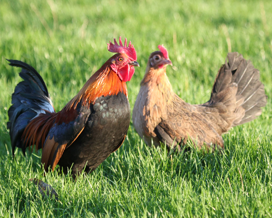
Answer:
[[[163,68],[167,65],[172,66],[172,62],[169,59],[168,51],[163,45],[158,45],[159,51],[153,52],[149,56],[149,67],[150,68]]]

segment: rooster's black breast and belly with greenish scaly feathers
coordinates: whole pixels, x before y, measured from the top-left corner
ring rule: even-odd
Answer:
[[[99,97],[90,110],[82,133],[66,152],[74,162],[88,161],[94,167],[122,143],[130,123],[130,107],[127,97],[119,93]]]

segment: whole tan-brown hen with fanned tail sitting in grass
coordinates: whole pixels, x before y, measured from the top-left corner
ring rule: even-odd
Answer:
[[[181,150],[190,139],[198,148],[224,148],[222,133],[262,113],[267,98],[264,85],[259,71],[241,54],[227,55],[211,99],[191,105],[173,92],[166,76],[166,66],[172,62],[166,48],[158,48],[149,56],[132,115],[137,133],[149,146],[162,142],[168,149]]]

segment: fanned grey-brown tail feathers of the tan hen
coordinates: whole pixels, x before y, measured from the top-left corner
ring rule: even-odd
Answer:
[[[228,113],[226,114],[224,110],[225,112],[220,115],[223,115],[231,128],[259,116],[266,99],[259,70],[254,68],[250,60],[245,60],[241,54],[232,52],[227,55],[226,63],[218,71],[211,99],[205,105],[213,107],[223,103]]]

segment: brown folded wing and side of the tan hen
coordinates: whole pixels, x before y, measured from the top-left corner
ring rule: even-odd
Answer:
[[[185,144],[189,138],[199,147],[204,143],[208,147],[211,144],[224,147],[223,139],[217,132],[217,123],[223,122],[217,109],[190,105],[176,95],[172,107],[167,108],[167,115],[167,119],[162,119],[154,130],[167,147]]]

